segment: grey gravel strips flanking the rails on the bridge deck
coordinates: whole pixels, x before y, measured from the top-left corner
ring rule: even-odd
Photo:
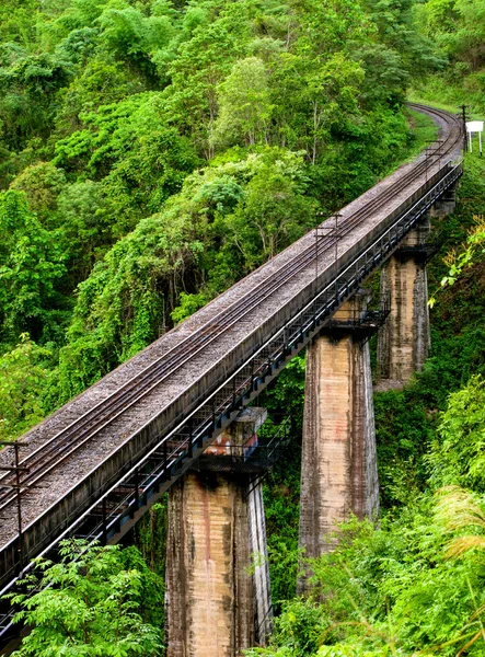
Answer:
[[[447,125],[442,116],[435,116],[435,118],[440,126],[440,136],[447,137],[450,132],[450,126]],[[460,147],[460,143],[455,143],[453,149],[447,154],[447,159],[449,160],[450,157],[458,155]],[[386,194],[394,189],[400,181],[405,180],[409,172],[415,171],[419,164],[423,164],[424,158],[424,155],[420,155],[413,163],[401,166],[395,173],[340,210],[339,227],[344,229],[346,222],[349,222],[356,212],[360,212],[362,208],[368,207],[369,204],[376,200],[383,199],[382,205],[378,209],[372,211],[370,216],[366,217],[358,226],[339,239],[339,262],[344,263],[346,254],[350,252],[362,237],[370,233],[383,219],[400,208],[423,185],[424,176],[420,175],[418,178],[406,184],[392,198],[385,198]],[[430,165],[426,172],[426,177],[431,177],[441,164],[442,162],[435,162]],[[330,230],[333,228],[334,221],[331,219],[322,226]],[[254,290],[262,281],[280,272],[281,267],[290,264],[297,256],[304,254],[314,244],[315,235],[314,231],[312,231],[220,295],[180,326],[160,337],[140,354],[54,413],[23,437],[23,441],[27,443],[27,447],[22,450],[22,458],[28,458],[36,450],[42,450],[42,447],[47,445],[60,430],[68,427],[80,416],[96,408],[101,402],[108,400],[111,395],[116,393],[122,385],[126,384],[135,376],[149,368],[151,364],[159,361],[161,358],[163,359],[169,351],[173,349],[176,351],[177,348],[183,351],[185,348],[183,345],[184,341],[195,333],[204,331],[208,322],[213,322],[213,318],[223,318],[224,313],[234,303],[240,303],[243,299],[251,299]],[[319,255],[319,276],[332,267],[335,267],[335,247],[333,245]],[[236,351],[238,345],[247,342],[258,327],[277,315],[293,299],[298,298],[302,293],[302,290],[307,290],[313,284],[314,279],[315,263],[311,261],[305,267],[291,276],[285,285],[275,289],[261,303],[255,304],[238,323],[227,328],[211,342],[208,338],[208,344],[199,353],[194,354],[188,361],[181,362],[177,369],[168,373],[142,400],[120,412],[116,419],[111,420],[104,429],[97,431],[83,447],[77,449],[72,457],[59,462],[55,470],[24,495],[22,506],[25,526],[33,523],[48,508],[62,499],[69,491],[73,489],[80,482],[86,480],[93,471],[109,458],[109,454],[119,449],[122,445],[131,440],[132,436],[139,433],[149,420],[155,423],[162,411],[170,407],[176,400],[185,397],[187,400],[187,410],[190,404],[195,404],[200,399],[200,391],[198,391],[197,384],[204,382],[208,372],[218,364],[220,366],[221,358],[228,358],[227,369],[230,372],[234,365],[234,360],[231,360],[231,355]],[[62,451],[58,454],[53,454],[51,458],[60,460],[66,449],[68,448],[62,447]],[[11,450],[7,449],[0,453],[0,464],[11,462],[10,452]],[[3,520],[0,527],[0,545],[5,545],[16,535],[15,505],[11,504],[2,510],[1,515]]]

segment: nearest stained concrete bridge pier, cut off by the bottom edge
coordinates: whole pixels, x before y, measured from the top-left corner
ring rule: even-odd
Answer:
[[[242,412],[200,458],[200,471],[170,489],[168,657],[236,657],[270,631],[261,484],[230,471],[254,449],[265,417],[263,408]]]

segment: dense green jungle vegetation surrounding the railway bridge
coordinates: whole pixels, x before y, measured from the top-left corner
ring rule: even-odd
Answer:
[[[485,113],[484,44],[484,0],[3,0],[0,438],[412,157],[435,131],[409,93]],[[309,599],[298,440],[266,480],[278,616],[251,654],[485,654],[484,176],[467,158],[437,227],[441,256],[469,243],[430,267],[432,289],[458,278],[436,296],[431,357],[376,395],[381,525],[342,528]],[[298,426],[303,379],[299,357],[265,395],[273,417]],[[46,564],[58,586],[26,609],[20,654],[163,654],[164,517],[138,549]]]

